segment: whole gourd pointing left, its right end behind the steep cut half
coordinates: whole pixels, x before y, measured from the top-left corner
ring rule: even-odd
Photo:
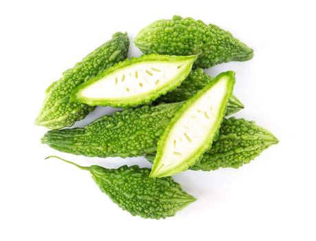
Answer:
[[[103,116],[85,128],[47,132],[42,143],[83,156],[143,156],[156,152],[158,138],[182,103],[138,107]]]

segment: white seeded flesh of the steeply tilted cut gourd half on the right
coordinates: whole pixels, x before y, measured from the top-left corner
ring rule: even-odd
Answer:
[[[226,92],[227,77],[222,77],[180,117],[169,132],[157,171],[164,172],[176,167],[210,138],[209,133]]]

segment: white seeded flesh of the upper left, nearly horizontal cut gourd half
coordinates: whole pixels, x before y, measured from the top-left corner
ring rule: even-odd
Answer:
[[[81,92],[81,96],[121,99],[145,94],[170,82],[189,63],[189,61],[135,63],[89,85]]]

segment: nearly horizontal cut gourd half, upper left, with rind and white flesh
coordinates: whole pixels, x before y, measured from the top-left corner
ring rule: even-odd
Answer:
[[[149,103],[178,87],[196,58],[149,54],[127,59],[76,87],[72,100],[112,107]]]

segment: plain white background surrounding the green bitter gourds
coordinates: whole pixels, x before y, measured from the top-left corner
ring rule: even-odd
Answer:
[[[315,7],[313,1],[1,1],[0,240],[316,240]],[[86,158],[40,142],[44,91],[114,32],[131,41],[173,14],[231,31],[255,50],[234,70],[235,94],[280,143],[240,169],[186,171],[175,179],[198,200],[175,217],[122,211],[81,165],[119,167],[142,158]],[[131,44],[129,56],[140,51]],[[109,109],[99,108],[76,126]]]

